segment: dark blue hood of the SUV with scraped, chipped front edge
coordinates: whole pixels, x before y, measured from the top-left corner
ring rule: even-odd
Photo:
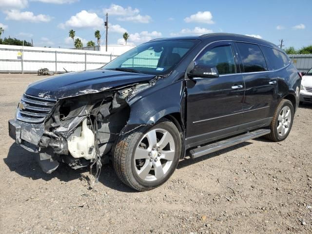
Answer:
[[[71,72],[38,80],[27,87],[27,95],[41,98],[68,98],[89,93],[99,93],[120,85],[150,80],[146,75],[112,70]]]

